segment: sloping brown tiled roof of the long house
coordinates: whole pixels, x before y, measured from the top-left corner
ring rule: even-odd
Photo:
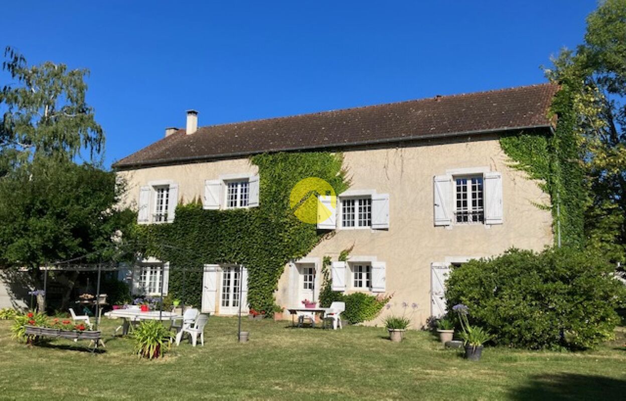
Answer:
[[[551,124],[553,84],[184,129],[115,163],[119,169],[275,151],[540,128]]]

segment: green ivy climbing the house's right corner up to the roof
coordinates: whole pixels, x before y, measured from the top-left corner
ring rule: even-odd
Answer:
[[[584,210],[588,191],[580,165],[582,155],[575,135],[572,94],[567,86],[558,91],[552,113],[558,117],[551,135],[544,131],[525,131],[503,135],[500,146],[513,161],[511,166],[540,180],[540,188],[550,195],[555,242],[560,222],[563,245],[582,246],[584,242]],[[546,207],[538,205],[539,207]]]

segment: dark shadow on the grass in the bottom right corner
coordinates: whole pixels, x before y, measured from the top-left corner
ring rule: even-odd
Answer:
[[[617,378],[558,373],[533,376],[530,382],[515,388],[511,400],[623,400],[626,380]]]

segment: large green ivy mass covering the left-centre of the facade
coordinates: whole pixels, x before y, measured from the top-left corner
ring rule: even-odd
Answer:
[[[200,305],[203,265],[237,263],[248,268],[250,308],[271,313],[285,264],[326,236],[295,217],[292,188],[308,177],[326,180],[336,193],[349,187],[341,153],[274,153],[250,162],[259,167],[259,207],[203,210],[195,200],[177,207],[172,224],[141,226],[145,256],[170,262],[169,292],[187,304]]]

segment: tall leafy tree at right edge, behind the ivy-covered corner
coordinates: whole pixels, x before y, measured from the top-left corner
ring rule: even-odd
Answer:
[[[587,18],[585,39],[553,59],[548,78],[571,94],[577,145],[591,190],[587,245],[626,260],[626,0],[607,0]]]

